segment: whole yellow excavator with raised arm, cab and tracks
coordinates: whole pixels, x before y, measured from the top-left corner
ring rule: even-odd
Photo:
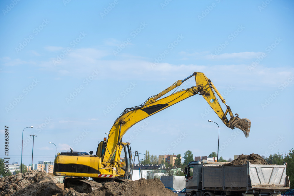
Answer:
[[[193,76],[195,77],[196,86],[161,98]],[[225,112],[221,108],[215,93],[225,104]],[[64,182],[65,187],[73,187],[79,192],[86,193],[95,190],[103,182],[129,176],[132,171],[131,147],[130,143],[122,142],[126,131],[139,121],[196,94],[203,96],[228,128],[239,128],[246,138],[249,136],[250,120],[241,119],[238,114],[234,116],[211,80],[203,73],[194,72],[191,76],[177,81],[156,96],[151,96],[142,105],[126,108],[115,120],[109,131],[108,138],[105,137],[99,143],[96,154],[93,151],[88,154],[86,152],[75,152],[72,149],[70,152],[58,153],[54,160],[53,174],[56,176],[69,176],[70,178],[66,178]],[[230,115],[230,120],[228,120],[227,114]],[[85,177],[91,177],[93,181],[86,180],[84,179]]]

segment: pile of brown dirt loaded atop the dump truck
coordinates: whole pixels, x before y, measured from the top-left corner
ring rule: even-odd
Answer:
[[[224,166],[230,165],[244,165],[247,164],[247,161],[251,164],[259,164],[259,165],[268,165],[266,160],[264,160],[260,155],[256,155],[252,153],[251,155],[240,155],[237,159],[231,161],[230,163],[225,163]]]

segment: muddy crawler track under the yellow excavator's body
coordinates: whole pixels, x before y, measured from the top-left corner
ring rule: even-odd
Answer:
[[[83,178],[66,178],[64,181],[64,188],[73,188],[77,192],[90,193],[99,187],[102,187],[101,183]]]

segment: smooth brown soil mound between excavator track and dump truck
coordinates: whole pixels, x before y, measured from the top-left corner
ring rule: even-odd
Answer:
[[[108,184],[88,193],[87,196],[171,196],[176,193],[164,187],[159,179],[144,179],[140,180]]]

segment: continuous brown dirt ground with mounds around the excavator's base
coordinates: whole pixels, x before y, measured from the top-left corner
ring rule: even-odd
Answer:
[[[79,193],[70,189],[64,190],[64,184],[46,173],[33,170],[25,174],[9,176],[9,187],[5,190],[5,178],[0,179],[0,193],[3,196],[172,196],[177,195],[166,189],[158,179],[140,179],[123,183],[106,183],[91,193]]]

